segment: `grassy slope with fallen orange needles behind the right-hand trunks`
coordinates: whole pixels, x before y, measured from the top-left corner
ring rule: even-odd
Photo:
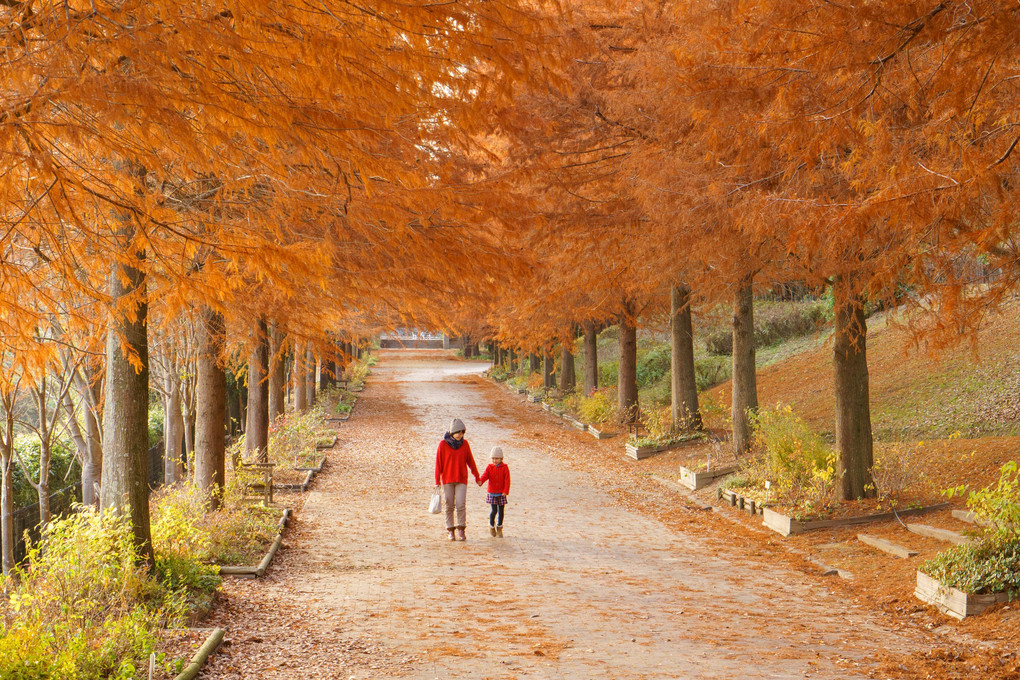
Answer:
[[[933,355],[895,315],[868,321],[871,417],[881,440],[1020,434],[1020,304],[988,320],[973,343]],[[822,432],[833,426],[829,331],[759,356],[761,404],[783,402]],[[708,396],[729,403],[729,383]]]

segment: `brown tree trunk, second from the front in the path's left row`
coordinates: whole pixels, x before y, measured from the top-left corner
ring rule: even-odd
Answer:
[[[207,507],[220,507],[226,475],[226,373],[223,370],[223,315],[212,310],[203,314],[199,343],[196,386],[198,418],[195,424],[195,485]]]

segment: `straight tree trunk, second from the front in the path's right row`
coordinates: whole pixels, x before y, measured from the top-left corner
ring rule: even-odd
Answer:
[[[755,298],[751,277],[733,297],[733,449],[740,456],[751,447],[750,414],[758,411],[755,373]]]

